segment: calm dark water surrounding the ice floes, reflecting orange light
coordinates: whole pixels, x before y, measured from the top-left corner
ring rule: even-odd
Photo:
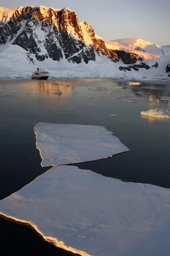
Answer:
[[[95,87],[99,86],[109,87],[108,90],[113,90],[113,93],[96,91]],[[62,91],[61,96],[54,94],[57,90]],[[3,98],[4,95],[14,97]],[[141,99],[139,102],[145,99],[150,103],[116,99],[122,96],[138,96]],[[170,188],[170,120],[140,115],[141,111],[150,108],[170,110],[170,101],[156,102],[159,96],[170,96],[168,82],[147,81],[140,86],[130,86],[127,81],[113,79],[0,80],[0,199],[49,169],[40,166],[41,158],[34,135],[37,122],[105,126],[130,151],[76,166],[127,182]],[[11,224],[2,218],[0,225],[1,234],[6,233],[4,243],[11,236],[11,229],[16,234],[23,232],[28,235],[32,232],[23,225]],[[34,241],[31,233],[30,237],[31,244],[35,239],[38,244],[37,235]],[[45,242],[40,241],[42,250],[45,250]]]

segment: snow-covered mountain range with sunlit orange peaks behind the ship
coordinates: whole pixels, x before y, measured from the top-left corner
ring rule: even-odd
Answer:
[[[23,65],[17,70],[12,62],[21,55],[27,70],[30,67],[32,70],[33,64],[48,70],[84,70],[83,77],[85,73],[94,74],[94,70],[93,76],[100,77],[123,77],[122,73],[139,70],[141,76],[146,76],[142,74],[147,70],[154,76],[167,76],[170,56],[162,58],[158,46],[156,54],[144,52],[149,46],[154,49],[155,45],[142,40],[141,43],[138,40],[139,51],[139,46],[133,47],[136,43],[132,41],[127,44],[121,40],[103,40],[95,35],[87,21],[79,22],[76,13],[67,7],[20,6],[16,10],[0,7],[0,58],[5,63],[1,77],[9,69],[22,73]]]

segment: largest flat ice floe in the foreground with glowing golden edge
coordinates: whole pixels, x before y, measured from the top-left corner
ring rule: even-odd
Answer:
[[[0,213],[82,256],[160,256],[170,230],[170,190],[54,166],[1,200]]]

